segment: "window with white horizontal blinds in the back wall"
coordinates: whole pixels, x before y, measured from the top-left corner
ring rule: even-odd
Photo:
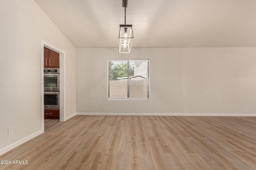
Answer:
[[[108,60],[108,99],[149,98],[149,60]]]

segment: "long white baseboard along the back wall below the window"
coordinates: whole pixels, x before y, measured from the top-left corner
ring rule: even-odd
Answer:
[[[256,116],[242,113],[76,113],[76,115],[124,115],[124,116]]]

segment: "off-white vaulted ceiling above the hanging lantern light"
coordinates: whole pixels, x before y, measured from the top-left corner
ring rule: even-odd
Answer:
[[[76,48],[118,48],[122,0],[34,0]],[[128,0],[132,48],[256,47],[256,0]]]

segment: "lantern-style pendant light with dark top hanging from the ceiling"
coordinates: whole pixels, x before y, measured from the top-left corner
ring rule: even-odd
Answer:
[[[133,40],[132,25],[126,25],[126,7],[128,0],[122,0],[124,7],[124,25],[119,30],[119,53],[130,53]]]

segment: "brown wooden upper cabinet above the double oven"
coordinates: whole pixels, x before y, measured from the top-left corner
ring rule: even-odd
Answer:
[[[44,47],[44,68],[60,68],[60,54]]]

